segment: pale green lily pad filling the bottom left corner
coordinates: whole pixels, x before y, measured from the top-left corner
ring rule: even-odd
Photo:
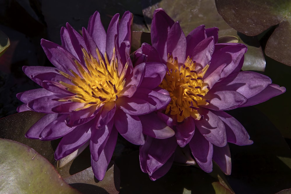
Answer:
[[[0,139],[1,193],[80,193],[32,148]],[[5,159],[5,160],[4,160]]]

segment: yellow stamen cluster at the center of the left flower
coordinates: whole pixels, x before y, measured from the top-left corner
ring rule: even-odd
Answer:
[[[125,74],[128,68],[128,64],[126,63],[122,72],[118,72],[118,60],[116,58],[115,48],[113,49],[110,62],[106,53],[104,55],[104,62],[98,49],[96,49],[98,60],[90,53],[88,54],[84,48],[82,48],[82,51],[87,68],[80,65],[77,60],[74,60],[79,75],[73,70],[70,70],[70,72],[74,76],[57,70],[57,72],[69,79],[74,85],[63,81],[58,81],[58,83],[65,86],[65,89],[74,93],[74,95],[56,100],[60,102],[84,103],[82,108],[77,108],[74,111],[79,111],[93,105],[97,105],[98,108],[106,102],[116,101],[125,86]]]

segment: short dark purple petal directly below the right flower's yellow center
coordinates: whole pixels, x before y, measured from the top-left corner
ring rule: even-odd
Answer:
[[[176,126],[176,138],[180,147],[185,147],[194,135],[195,123],[193,118],[188,117],[182,124]]]

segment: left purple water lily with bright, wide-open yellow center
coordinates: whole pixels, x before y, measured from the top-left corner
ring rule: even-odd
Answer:
[[[55,67],[23,67],[24,73],[42,88],[17,94],[23,104],[18,112],[47,113],[26,133],[27,138],[61,138],[55,150],[60,160],[90,145],[91,164],[102,180],[111,160],[118,133],[129,142],[144,144],[144,134],[168,138],[174,131],[164,122],[143,127],[144,114],[165,108],[171,98],[159,88],[166,66],[141,63],[133,68],[132,13],[113,16],[107,33],[95,12],[81,36],[70,24],[61,28],[62,46],[41,40]],[[161,134],[161,135],[160,135]]]

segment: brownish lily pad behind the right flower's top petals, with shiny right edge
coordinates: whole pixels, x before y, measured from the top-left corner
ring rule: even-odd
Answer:
[[[191,1],[191,3],[187,0],[162,0],[157,3],[144,1],[143,15],[149,29],[152,22],[152,13],[157,8],[163,8],[174,21],[178,21],[185,35],[197,26],[204,24],[206,28],[218,27],[219,36],[239,36],[239,43],[243,43],[248,47],[242,69],[265,70],[265,58],[258,39],[253,37],[242,38],[219,15],[215,8],[214,0]]]

